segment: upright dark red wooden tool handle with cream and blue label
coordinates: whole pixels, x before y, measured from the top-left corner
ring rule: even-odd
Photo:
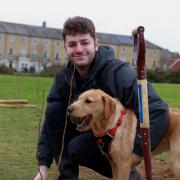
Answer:
[[[145,62],[145,40],[144,27],[139,26],[133,31],[134,51],[137,62],[137,82],[138,82],[138,99],[139,99],[139,120],[142,134],[142,145],[144,153],[144,164],[147,180],[152,180],[151,166],[151,143],[150,143],[150,123],[148,92],[146,80],[146,62]]]

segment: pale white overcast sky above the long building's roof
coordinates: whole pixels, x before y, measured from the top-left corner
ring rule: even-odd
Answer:
[[[180,0],[0,0],[0,21],[62,28],[72,16],[93,20],[96,31],[131,35],[139,25],[145,38],[180,52]]]

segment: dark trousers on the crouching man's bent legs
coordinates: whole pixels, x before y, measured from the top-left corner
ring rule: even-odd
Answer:
[[[60,163],[59,180],[78,180],[79,168],[82,165],[112,178],[111,166],[101,154],[93,134],[87,132],[73,138],[63,151]]]

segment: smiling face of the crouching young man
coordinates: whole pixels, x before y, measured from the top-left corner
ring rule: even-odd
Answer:
[[[94,40],[90,34],[66,35],[67,56],[79,69],[89,67],[98,47],[98,40]]]

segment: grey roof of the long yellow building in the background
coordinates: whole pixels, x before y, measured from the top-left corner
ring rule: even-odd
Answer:
[[[52,38],[52,39],[62,39],[61,29],[57,28],[49,28],[46,27],[45,22],[43,22],[43,26],[33,26],[33,25],[25,25],[25,24],[17,24],[10,22],[2,22],[0,21],[0,33],[10,33],[10,34],[18,34],[24,36],[34,36],[34,37],[44,37],[44,38]],[[114,44],[114,45],[127,45],[133,46],[133,37],[126,35],[118,35],[118,34],[108,34],[108,33],[96,33],[97,38],[100,40],[100,43],[103,44]],[[161,49],[161,47],[151,43],[146,40],[146,47]]]

